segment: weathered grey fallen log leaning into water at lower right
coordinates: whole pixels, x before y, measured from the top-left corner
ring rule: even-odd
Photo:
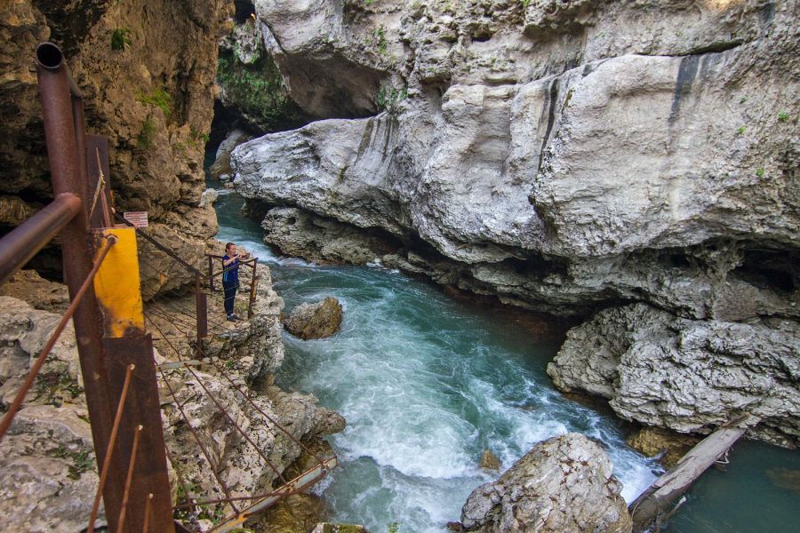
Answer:
[[[757,423],[758,418],[744,415],[698,442],[677,465],[653,482],[649,489],[628,505],[634,531],[644,531],[653,521],[668,513],[668,506],[689,489],[700,474],[723,457],[749,426]]]

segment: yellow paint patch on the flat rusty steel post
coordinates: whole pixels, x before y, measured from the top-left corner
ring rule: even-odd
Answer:
[[[106,337],[120,338],[131,328],[144,330],[136,230],[115,227],[102,232],[115,235],[117,241],[94,277],[94,292],[103,309]]]

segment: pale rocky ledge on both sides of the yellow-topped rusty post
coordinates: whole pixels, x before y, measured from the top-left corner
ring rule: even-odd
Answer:
[[[313,395],[287,393],[270,385],[284,358],[279,321],[284,303],[272,290],[268,267],[260,266],[259,276],[251,320],[235,325],[223,322],[230,329],[211,330],[203,346],[202,367],[158,373],[171,467],[186,481],[193,497],[225,497],[214,473],[233,495],[266,492],[301,455],[297,441],[316,442],[319,435],[345,427],[344,418],[319,406]],[[36,279],[24,276],[22,282],[29,278]],[[18,285],[12,282],[9,287]],[[154,298],[146,314],[151,308],[163,313],[164,307],[194,303],[190,296],[185,302],[165,298]],[[41,300],[36,295],[35,303]],[[217,303],[214,308],[222,314],[221,303]],[[8,408],[30,362],[59,319],[59,315],[34,309],[19,299],[0,296],[0,406]],[[194,357],[188,338],[182,343],[174,339],[180,335],[180,327],[166,330],[163,320],[148,314],[148,326],[156,337],[173,338],[155,341],[156,362]],[[21,527],[66,533],[85,527],[98,483],[87,420],[76,343],[69,327],[56,343],[9,436],[0,442],[0,510],[4,516],[19,518],[7,527],[0,526],[0,531]],[[234,423],[244,429],[246,437]],[[219,507],[209,507],[200,518],[231,511]]]

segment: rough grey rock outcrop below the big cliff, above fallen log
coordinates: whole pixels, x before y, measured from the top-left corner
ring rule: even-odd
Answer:
[[[800,327],[777,318],[693,321],[644,304],[611,308],[567,334],[548,374],[610,399],[622,418],[707,434],[750,413],[750,433],[800,443]]]

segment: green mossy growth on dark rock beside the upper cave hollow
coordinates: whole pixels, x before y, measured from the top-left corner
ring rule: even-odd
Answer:
[[[300,107],[289,96],[284,78],[266,53],[251,65],[237,60],[235,54],[220,54],[217,81],[228,102],[264,129],[295,123],[300,116]]]

